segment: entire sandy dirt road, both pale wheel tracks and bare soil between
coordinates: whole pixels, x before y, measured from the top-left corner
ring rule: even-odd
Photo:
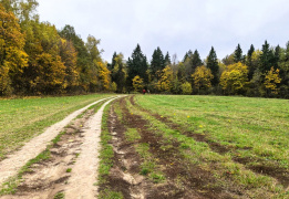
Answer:
[[[74,112],[62,122],[48,128],[44,135],[32,139],[37,143],[31,140],[20,151],[0,163],[0,179],[4,181],[8,177],[16,175],[29,159],[43,151],[48,143],[60,132],[64,132],[60,140],[49,148],[49,159],[33,164],[24,172],[16,195],[0,198],[49,199],[56,195],[65,195],[65,198],[95,198],[97,188],[94,182],[97,177],[102,114],[104,107],[113,100],[115,98],[104,98]],[[94,109],[89,109],[81,118],[75,118],[90,106],[104,101],[107,102],[96,114],[94,114]],[[75,119],[73,121],[73,118]],[[70,125],[66,126],[68,124]],[[66,127],[64,128],[64,126]]]

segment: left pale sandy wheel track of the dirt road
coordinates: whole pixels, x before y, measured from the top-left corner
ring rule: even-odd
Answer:
[[[47,148],[49,142],[51,142],[58,134],[78,115],[83,113],[89,107],[109,100],[103,98],[96,101],[72,114],[66,116],[63,121],[50,126],[43,134],[34,137],[29,143],[27,143],[20,150],[14,154],[9,155],[4,160],[0,163],[0,185],[3,184],[9,177],[16,176],[18,170],[25,165],[25,163]]]

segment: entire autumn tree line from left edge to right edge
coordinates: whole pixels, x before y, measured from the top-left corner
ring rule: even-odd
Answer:
[[[214,48],[205,60],[197,50],[176,54],[154,50],[151,61],[140,44],[128,60],[101,57],[100,40],[84,42],[72,25],[56,30],[40,22],[37,0],[0,0],[0,96],[141,92],[218,94],[289,98],[289,43],[260,50],[240,44],[219,60]]]

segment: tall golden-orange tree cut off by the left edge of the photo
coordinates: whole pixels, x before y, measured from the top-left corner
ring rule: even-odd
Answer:
[[[25,39],[18,19],[0,3],[0,95],[9,95],[21,85],[21,74],[28,65],[23,51]]]

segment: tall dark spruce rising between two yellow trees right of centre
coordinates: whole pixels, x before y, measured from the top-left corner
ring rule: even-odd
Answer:
[[[211,84],[214,86],[216,86],[219,82],[219,78],[218,78],[218,76],[219,76],[219,63],[218,63],[217,54],[216,54],[214,46],[211,46],[211,49],[209,51],[209,55],[208,55],[208,59],[207,59],[207,67],[210,69],[211,74],[214,75]]]

